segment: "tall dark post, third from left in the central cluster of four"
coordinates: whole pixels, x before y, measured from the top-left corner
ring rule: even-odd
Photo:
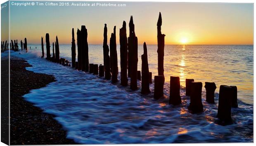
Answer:
[[[128,42],[126,35],[126,21],[123,21],[123,27],[119,31],[120,40],[120,66],[121,66],[121,85],[127,86],[127,53],[128,53]]]

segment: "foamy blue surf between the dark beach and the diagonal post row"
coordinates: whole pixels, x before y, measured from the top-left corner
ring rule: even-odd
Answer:
[[[215,94],[216,104],[208,104],[203,90],[204,112],[191,114],[187,110],[190,100],[185,96],[184,87],[180,90],[182,105],[172,106],[168,104],[168,81],[164,86],[165,98],[156,101],[153,92],[141,95],[140,89],[132,91],[120,83],[113,85],[104,78],[41,59],[35,52],[12,55],[25,58],[32,65],[27,70],[52,74],[57,81],[31,90],[24,97],[46,113],[54,114],[67,130],[67,137],[78,143],[253,141],[252,104],[239,100],[239,108],[232,109],[234,124],[221,126],[214,123],[218,93]],[[140,86],[140,82],[138,84]],[[154,91],[153,84],[150,89]]]

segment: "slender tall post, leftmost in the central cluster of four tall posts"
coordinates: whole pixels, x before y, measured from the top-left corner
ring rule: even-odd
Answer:
[[[110,58],[109,58],[109,46],[107,45],[107,24],[104,25],[104,34],[103,34],[103,53],[104,53],[104,70],[105,70],[105,79],[111,79],[110,73]]]

